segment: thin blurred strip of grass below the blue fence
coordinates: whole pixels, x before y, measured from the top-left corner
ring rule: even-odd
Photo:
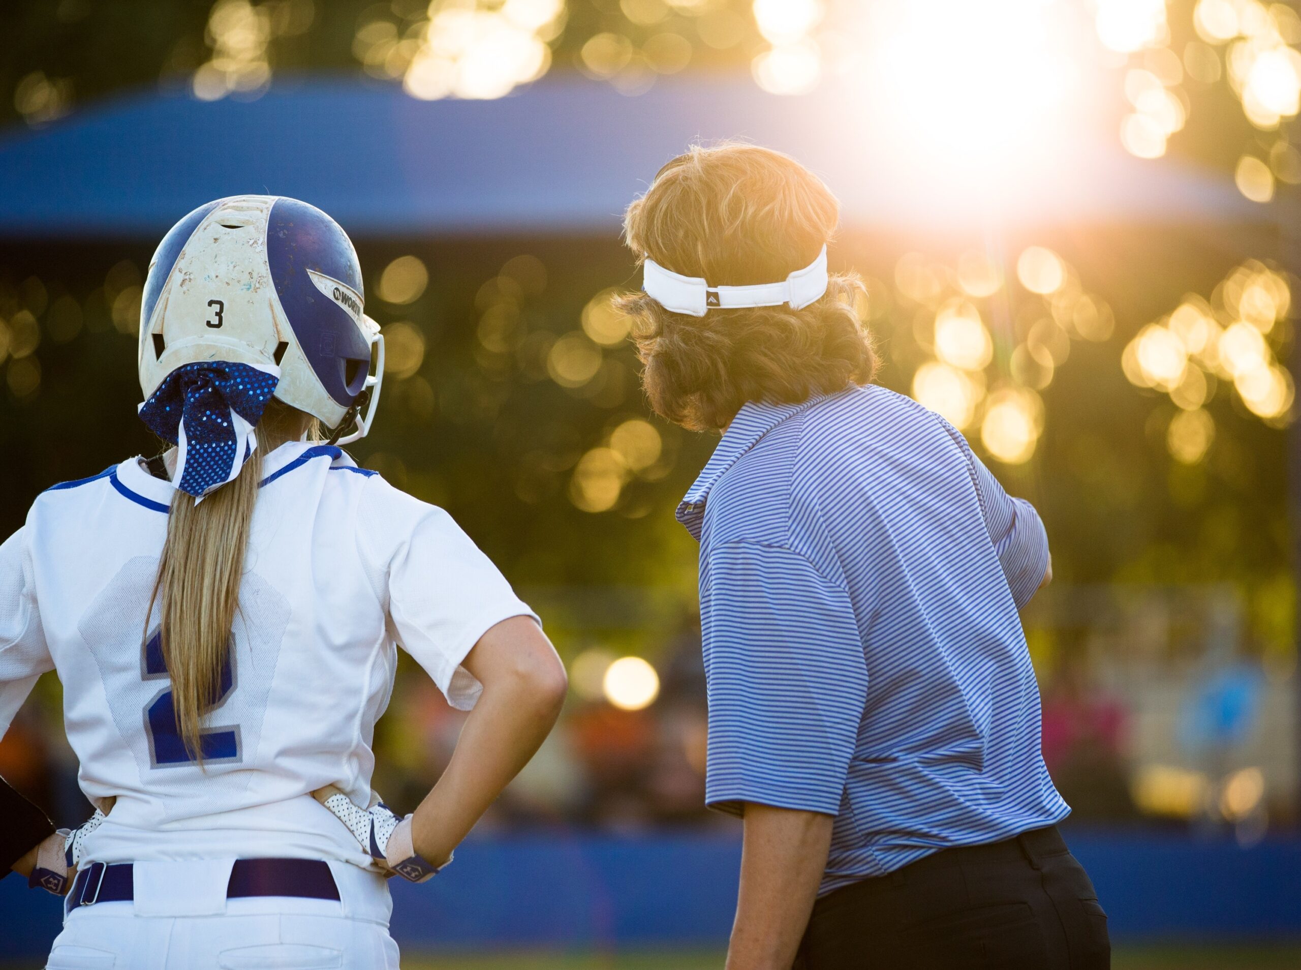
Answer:
[[[721,953],[643,953],[627,956],[406,957],[405,970],[721,970]],[[1118,947],[1114,970],[1296,970],[1296,945]]]

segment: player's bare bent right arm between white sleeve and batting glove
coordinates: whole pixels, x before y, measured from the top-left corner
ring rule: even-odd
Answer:
[[[531,620],[498,624],[466,667],[483,682],[483,695],[448,769],[411,820],[416,853],[435,865],[448,859],[533,756],[565,700],[565,668]]]

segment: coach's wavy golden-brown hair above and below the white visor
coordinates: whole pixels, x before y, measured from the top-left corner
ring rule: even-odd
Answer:
[[[693,146],[628,206],[624,238],[637,262],[653,259],[713,285],[785,280],[835,234],[839,203],[787,155],[753,145]],[[853,273],[837,273],[801,310],[762,306],[688,316],[645,293],[621,297],[644,365],[650,406],[688,428],[725,427],[747,401],[798,402],[865,384],[872,341],[855,302]]]

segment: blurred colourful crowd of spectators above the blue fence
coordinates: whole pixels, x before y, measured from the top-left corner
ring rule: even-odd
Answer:
[[[1263,835],[1271,801],[1263,775],[1239,766],[1250,760],[1252,745],[1268,730],[1267,691],[1258,671],[1218,667],[1185,691],[1177,711],[1166,712],[1171,716],[1164,721],[1176,725],[1175,745],[1184,760],[1201,766],[1193,769],[1167,764],[1179,755],[1162,754],[1160,738],[1151,737],[1162,733],[1164,721],[1149,708],[1162,702],[1145,703],[1103,686],[1086,656],[1072,655],[1050,672],[1041,671],[1043,758],[1072,806],[1072,820],[1146,819],[1200,829],[1229,829],[1226,823],[1236,823],[1240,838]],[[735,824],[704,807],[706,698],[699,628],[686,626],[671,637],[654,669],[653,697],[631,706],[583,689],[582,676],[575,677],[557,730],[485,818],[484,831],[637,832]],[[451,758],[463,720],[403,656],[375,743],[375,788],[388,803],[403,811],[415,807]],[[60,824],[78,824],[88,814],[77,788],[75,756],[64,741],[59,685],[51,676],[0,741],[0,775]],[[1278,780],[1274,785],[1268,794],[1278,803],[1287,793],[1278,790]]]

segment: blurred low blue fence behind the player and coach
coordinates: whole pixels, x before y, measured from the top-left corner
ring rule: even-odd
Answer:
[[[1116,939],[1301,937],[1301,838],[1068,838]],[[722,945],[739,863],[730,835],[475,840],[432,883],[393,883],[393,935],[416,950]],[[0,958],[43,954],[59,926],[57,900],[0,881]]]

